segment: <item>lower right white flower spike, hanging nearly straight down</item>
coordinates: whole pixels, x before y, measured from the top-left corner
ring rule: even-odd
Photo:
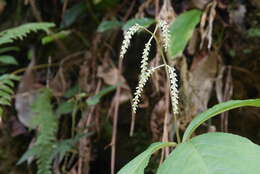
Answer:
[[[177,80],[177,74],[175,73],[175,68],[174,67],[168,67],[168,72],[170,76],[170,92],[171,92],[171,101],[172,101],[172,107],[173,107],[173,112],[174,114],[178,113],[178,99],[179,99],[179,91],[178,91],[178,80]]]

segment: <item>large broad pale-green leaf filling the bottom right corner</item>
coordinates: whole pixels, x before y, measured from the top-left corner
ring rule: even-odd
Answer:
[[[227,133],[207,133],[181,143],[157,174],[259,174],[260,147]]]

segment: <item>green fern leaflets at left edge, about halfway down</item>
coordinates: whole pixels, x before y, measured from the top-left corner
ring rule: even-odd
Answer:
[[[2,106],[10,106],[12,95],[14,93],[14,82],[20,78],[13,74],[5,74],[0,76],[0,116],[3,114]]]

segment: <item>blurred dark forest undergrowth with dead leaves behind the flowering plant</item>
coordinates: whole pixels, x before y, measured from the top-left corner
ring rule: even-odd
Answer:
[[[181,133],[214,104],[260,98],[259,0],[0,0],[0,40],[7,29],[48,22],[0,42],[0,96],[10,99],[0,101],[0,174],[113,174],[152,142],[174,141],[163,71],[131,113],[149,35],[136,34],[123,61],[119,51],[130,24],[153,30],[156,20],[171,23],[191,9],[202,11],[202,22],[183,56],[169,60],[179,79]],[[160,61],[155,43],[149,61]],[[197,134],[208,131],[260,144],[260,110],[230,111]],[[147,173],[161,154],[152,159]]]

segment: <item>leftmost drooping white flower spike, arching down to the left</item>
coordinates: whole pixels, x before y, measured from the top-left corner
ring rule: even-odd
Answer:
[[[140,29],[139,24],[133,25],[131,28],[129,28],[128,31],[124,32],[124,40],[122,43],[121,51],[120,51],[120,58],[124,58],[124,55],[130,46],[130,41],[133,37],[133,35]]]

